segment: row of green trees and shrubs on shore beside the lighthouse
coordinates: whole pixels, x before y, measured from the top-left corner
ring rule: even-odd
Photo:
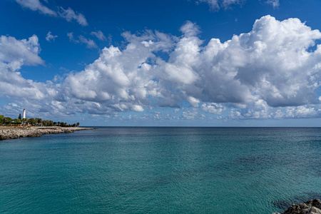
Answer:
[[[15,126],[15,125],[29,125],[29,126],[61,126],[61,127],[78,127],[79,123],[63,123],[63,122],[54,122],[48,120],[42,120],[41,118],[21,118],[21,114],[18,118],[12,119],[9,117],[4,117],[0,115],[0,125],[2,126]]]

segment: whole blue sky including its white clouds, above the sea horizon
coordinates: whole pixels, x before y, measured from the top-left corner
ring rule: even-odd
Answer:
[[[0,2],[0,114],[320,126],[320,1]]]

